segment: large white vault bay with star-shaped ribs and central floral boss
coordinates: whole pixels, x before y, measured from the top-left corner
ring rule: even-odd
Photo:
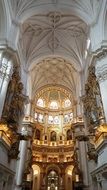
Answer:
[[[48,12],[30,17],[21,27],[20,46],[28,65],[35,59],[62,56],[83,68],[87,25],[78,17]]]

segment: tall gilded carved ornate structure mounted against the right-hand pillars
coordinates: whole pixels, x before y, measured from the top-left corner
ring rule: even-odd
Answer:
[[[84,115],[86,125],[90,133],[104,122],[104,111],[100,93],[99,83],[95,75],[95,67],[89,67],[89,75],[85,85],[85,96],[83,97]]]

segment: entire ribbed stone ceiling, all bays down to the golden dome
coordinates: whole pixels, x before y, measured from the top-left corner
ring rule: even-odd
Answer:
[[[18,22],[18,52],[29,72],[32,93],[46,85],[81,90],[89,26],[96,21],[98,0],[10,0]]]

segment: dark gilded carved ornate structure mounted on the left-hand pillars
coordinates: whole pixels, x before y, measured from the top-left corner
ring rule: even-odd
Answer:
[[[24,103],[27,99],[22,93],[23,84],[19,72],[15,70],[9,82],[2,119],[9,123],[18,124],[24,113]]]

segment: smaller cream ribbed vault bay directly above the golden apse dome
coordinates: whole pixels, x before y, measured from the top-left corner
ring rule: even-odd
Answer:
[[[71,63],[62,58],[47,58],[30,70],[32,91],[43,86],[63,86],[76,93],[77,73]]]

